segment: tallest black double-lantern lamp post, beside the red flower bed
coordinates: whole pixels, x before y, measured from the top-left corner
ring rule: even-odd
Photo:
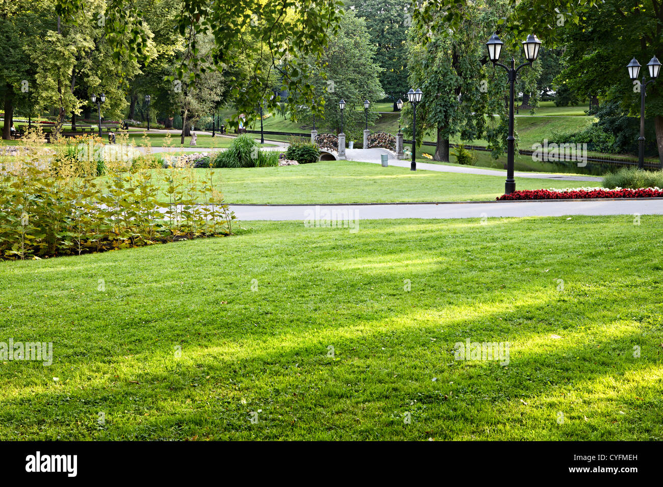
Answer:
[[[513,98],[514,98],[514,85],[516,83],[516,76],[518,71],[523,66],[532,66],[532,62],[536,60],[538,51],[541,46],[541,41],[535,35],[530,34],[527,40],[522,41],[522,48],[525,52],[525,59],[527,62],[520,64],[516,68],[516,60],[511,58],[511,67],[499,63],[499,55],[502,51],[504,42],[499,40],[497,34],[493,34],[486,43],[488,48],[488,57],[495,66],[502,66],[509,74],[509,136],[507,136],[507,182],[505,184],[505,193],[509,194],[516,190],[516,180],[513,178],[513,166],[515,159],[515,146],[516,138],[513,136]]]

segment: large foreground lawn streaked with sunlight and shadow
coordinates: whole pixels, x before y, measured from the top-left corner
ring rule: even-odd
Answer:
[[[54,354],[0,362],[0,439],[660,441],[663,217],[641,219],[251,222],[0,262],[0,341]],[[508,365],[455,360],[467,339]]]

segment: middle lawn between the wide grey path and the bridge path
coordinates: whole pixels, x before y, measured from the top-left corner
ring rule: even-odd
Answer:
[[[164,172],[165,171],[165,172]],[[170,170],[154,170],[165,190]],[[210,170],[194,170],[210,178]],[[353,161],[276,168],[212,170],[228,203],[374,203],[384,201],[485,201],[504,194],[505,176],[477,176]],[[518,189],[600,186],[598,182],[517,178]],[[165,193],[164,193],[165,194]],[[165,201],[165,200],[164,200]]]

